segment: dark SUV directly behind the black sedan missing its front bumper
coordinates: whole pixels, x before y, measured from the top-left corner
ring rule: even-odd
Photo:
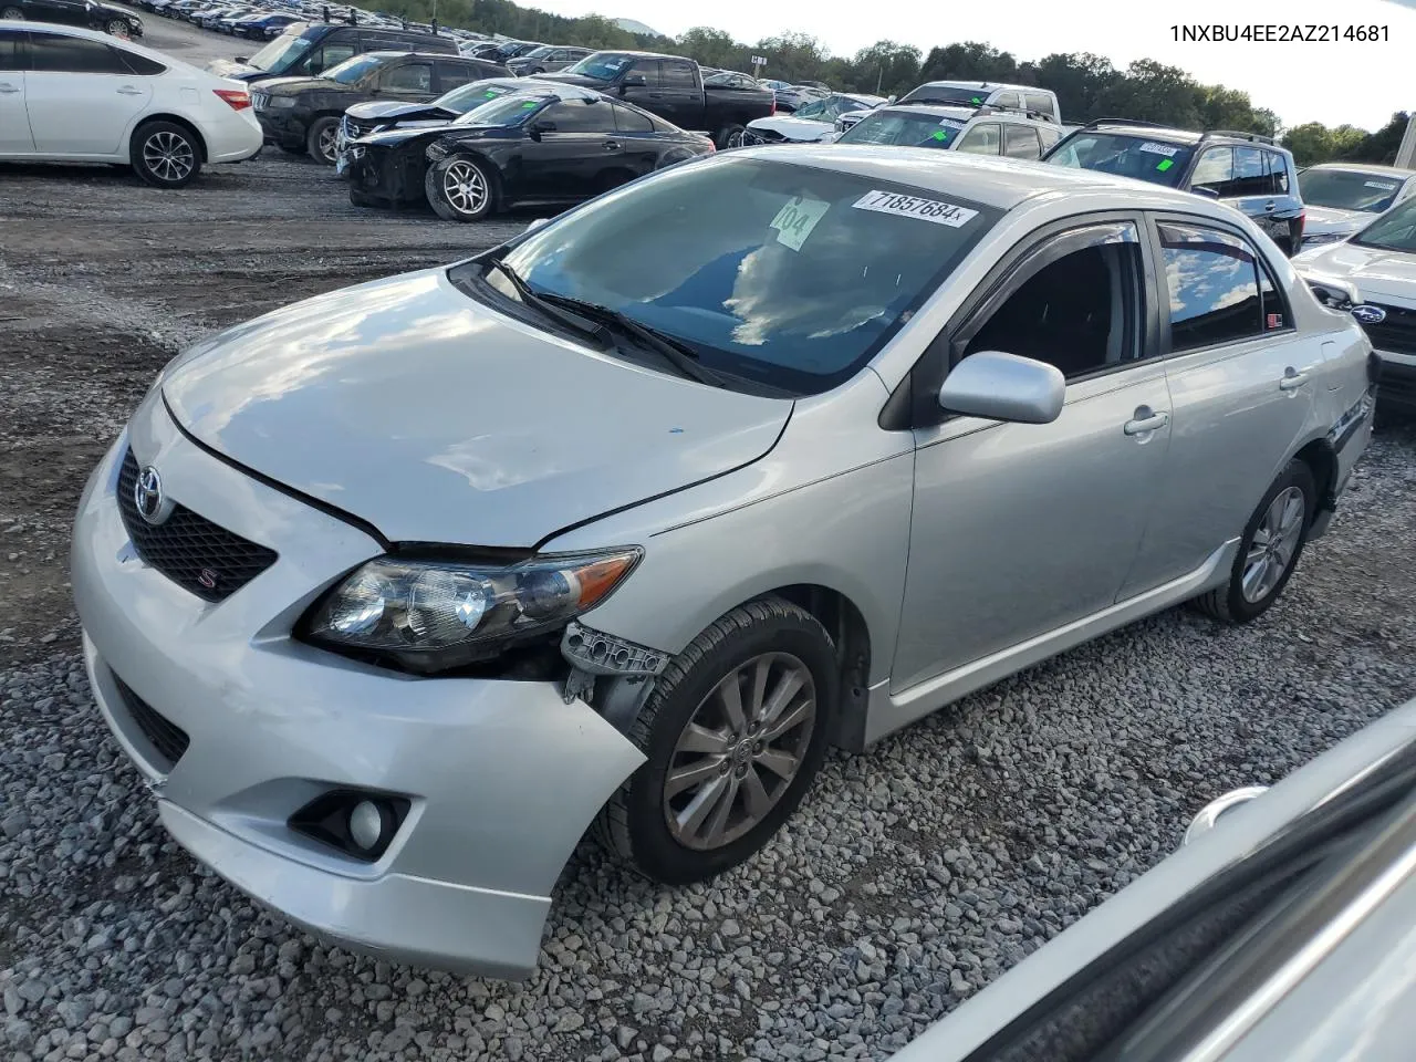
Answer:
[[[480,78],[507,76],[506,67],[463,55],[371,51],[314,78],[276,78],[251,92],[266,140],[292,154],[333,166],[344,112],[370,101],[421,103]]]

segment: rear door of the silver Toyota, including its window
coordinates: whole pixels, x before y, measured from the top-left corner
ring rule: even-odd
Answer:
[[[1281,290],[1245,236],[1180,219],[1157,232],[1174,435],[1126,595],[1195,571],[1243,534],[1325,389],[1321,341],[1293,330]]]

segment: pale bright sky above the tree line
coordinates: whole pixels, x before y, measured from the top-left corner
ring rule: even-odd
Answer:
[[[753,42],[782,33],[807,33],[833,54],[854,54],[881,38],[930,47],[983,41],[1018,59],[1049,52],[1090,51],[1124,68],[1150,58],[1188,71],[1205,84],[1249,93],[1255,106],[1276,112],[1284,126],[1344,122],[1378,129],[1396,110],[1416,109],[1416,0],[1185,0],[1138,4],[1136,0],[1012,0],[1000,4],[903,3],[858,0],[715,0],[700,7],[685,0],[521,0],[555,14],[603,14],[636,18],[677,35],[694,25],[726,30]],[[1240,14],[1245,11],[1246,14]],[[1187,42],[1171,27],[1189,24],[1297,24],[1388,28],[1386,41],[1359,42]],[[1405,57],[1405,58],[1403,58]],[[766,76],[770,76],[770,65]],[[1062,116],[1068,120],[1068,116]]]

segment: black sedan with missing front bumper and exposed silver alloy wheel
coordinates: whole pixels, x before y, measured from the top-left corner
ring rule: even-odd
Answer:
[[[573,204],[714,150],[712,140],[599,92],[521,82],[452,125],[351,146],[350,201],[426,201],[449,221],[518,204]]]

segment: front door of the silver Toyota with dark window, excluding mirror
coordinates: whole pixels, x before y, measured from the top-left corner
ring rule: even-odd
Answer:
[[[1044,239],[964,321],[953,355],[1048,361],[1048,425],[916,428],[909,575],[892,692],[1109,607],[1140,547],[1170,446],[1164,365],[1144,355],[1137,219]]]

